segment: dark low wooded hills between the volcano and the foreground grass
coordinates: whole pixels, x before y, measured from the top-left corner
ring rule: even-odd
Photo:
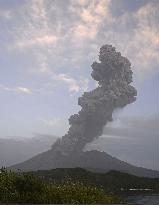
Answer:
[[[84,184],[103,188],[107,193],[122,194],[159,194],[159,178],[137,177],[119,171],[95,173],[82,168],[60,168],[32,172],[46,181],[62,183],[65,178]]]

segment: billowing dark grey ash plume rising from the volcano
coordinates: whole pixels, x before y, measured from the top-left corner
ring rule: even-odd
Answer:
[[[87,143],[102,134],[103,127],[112,121],[112,113],[116,108],[136,100],[137,91],[130,85],[131,64],[114,47],[102,46],[99,62],[94,62],[92,69],[92,78],[98,81],[99,86],[78,99],[82,109],[69,118],[68,133],[52,147],[61,154],[82,152]]]

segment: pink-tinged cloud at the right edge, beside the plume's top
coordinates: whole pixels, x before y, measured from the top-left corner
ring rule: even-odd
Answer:
[[[136,14],[137,29],[130,49],[134,52],[134,62],[136,62],[141,75],[156,70],[155,64],[159,64],[159,25],[153,24],[156,18],[159,6],[148,4],[142,7]],[[155,69],[155,70],[154,70]]]

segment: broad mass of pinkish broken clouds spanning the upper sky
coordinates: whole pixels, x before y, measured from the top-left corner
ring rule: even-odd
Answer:
[[[159,63],[159,27],[154,23],[158,19],[156,4],[150,2],[121,16],[113,16],[110,0],[70,0],[66,8],[61,5],[58,1],[31,0],[17,11],[17,17],[21,16],[24,22],[15,26],[10,45],[24,51],[26,59],[29,54],[34,57],[29,72],[54,76],[68,85],[70,92],[78,92],[82,90],[80,79],[67,73],[91,63],[105,43],[114,44],[130,59],[136,76],[156,72]],[[65,71],[58,74],[61,68]]]

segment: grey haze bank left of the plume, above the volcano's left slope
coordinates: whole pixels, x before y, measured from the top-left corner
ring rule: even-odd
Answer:
[[[53,135],[37,134],[32,138],[0,138],[0,167],[11,166],[48,150],[57,139]]]

